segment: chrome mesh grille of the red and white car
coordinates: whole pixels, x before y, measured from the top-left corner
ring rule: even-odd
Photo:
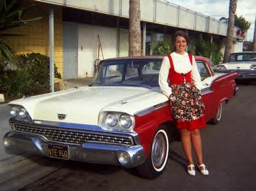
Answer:
[[[20,123],[13,123],[13,128],[18,132],[41,135],[48,140],[67,144],[80,145],[84,142],[101,142],[106,144],[117,144],[125,146],[133,145],[133,138],[129,135],[114,135],[108,133],[76,131],[70,129],[59,129],[54,127],[35,126]]]

